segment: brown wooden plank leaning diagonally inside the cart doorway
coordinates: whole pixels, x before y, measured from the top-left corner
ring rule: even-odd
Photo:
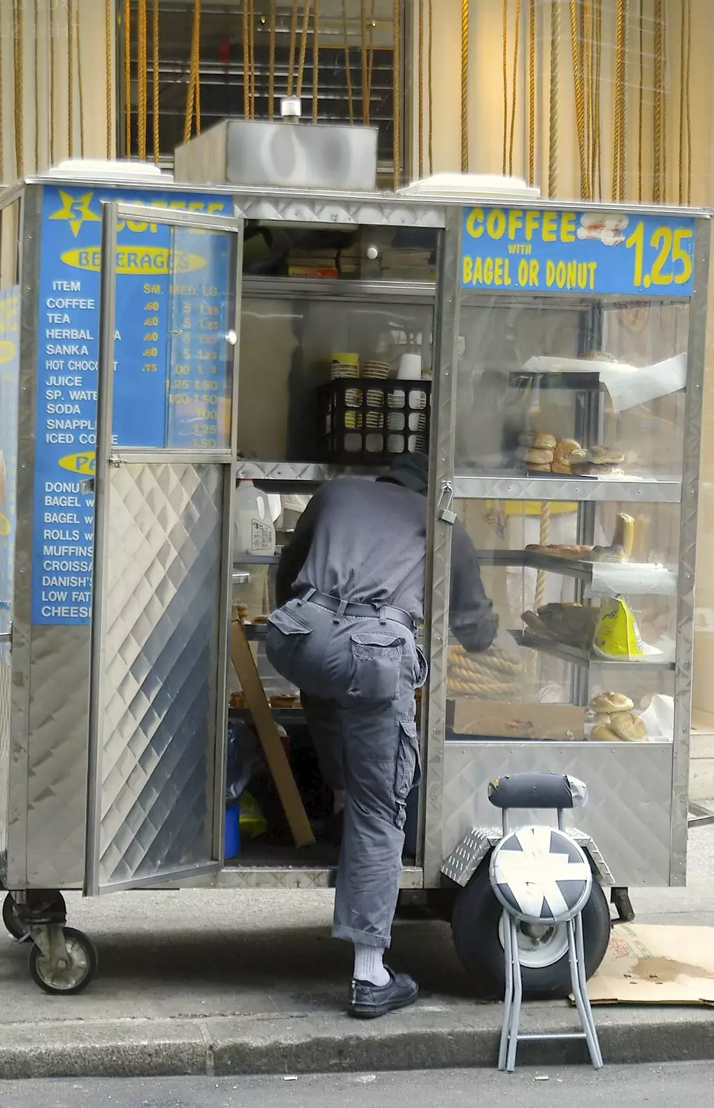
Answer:
[[[273,719],[255,658],[251,653],[251,644],[245,637],[243,624],[238,619],[234,619],[231,625],[231,660],[253,716],[253,722],[275,781],[285,817],[290,825],[295,845],[309,847],[315,842],[315,835]]]

